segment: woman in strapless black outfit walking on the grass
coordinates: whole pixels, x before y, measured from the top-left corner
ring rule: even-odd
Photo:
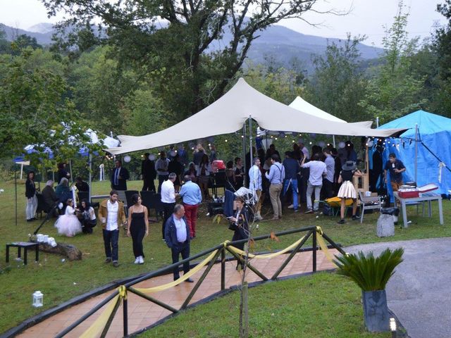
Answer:
[[[132,237],[135,264],[144,264],[142,239],[149,235],[149,218],[147,217],[147,208],[141,204],[140,195],[134,194],[132,202],[133,205],[128,209],[127,235]]]

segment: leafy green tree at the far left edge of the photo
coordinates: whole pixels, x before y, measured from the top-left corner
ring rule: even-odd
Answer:
[[[85,130],[73,103],[63,98],[65,80],[31,61],[30,49],[0,56],[0,158],[23,154],[28,144],[38,151],[32,159],[43,159],[47,148],[54,161],[69,158],[87,141]]]

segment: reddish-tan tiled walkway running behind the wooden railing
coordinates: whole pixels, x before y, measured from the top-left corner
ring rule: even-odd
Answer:
[[[336,254],[338,251],[330,250],[330,253]],[[276,258],[271,259],[255,259],[251,263],[254,265],[261,273],[266,277],[271,278],[271,275],[276,272],[280,267],[281,263],[287,258],[287,255],[280,255]],[[317,270],[328,270],[334,268],[334,265],[330,263],[321,251],[317,253]],[[237,285],[240,283],[241,276],[235,270],[236,261],[230,261],[226,263],[226,288]],[[285,269],[280,273],[280,277],[288,275],[296,275],[298,273],[311,272],[312,268],[312,253],[303,252],[297,253],[294,258],[288,263]],[[202,275],[205,268],[194,275],[194,280]],[[248,270],[247,280],[249,282],[261,280],[256,274],[251,270]],[[155,287],[161,284],[166,284],[172,281],[172,275],[163,275],[160,277],[152,278],[152,280],[147,280],[136,284],[135,287]],[[154,298],[159,299],[174,308],[180,308],[182,303],[185,301],[187,295],[190,293],[191,289],[194,287],[195,283],[183,282],[177,287],[168,289],[162,292],[156,292],[151,294]],[[210,273],[206,276],[204,282],[201,284],[197,293],[190,303],[194,303],[201,299],[214,294],[221,290],[221,264],[215,264],[211,268]],[[107,293],[109,294],[109,293]],[[39,323],[28,330],[20,334],[18,337],[32,337],[32,338],[47,338],[54,337],[58,332],[61,332],[64,328],[68,327],[70,324],[78,320],[83,314],[87,313],[91,308],[93,308],[97,303],[99,303],[107,294],[101,296],[96,296],[92,299],[80,303],[77,306],[68,308],[66,311],[58,313],[42,323]],[[80,337],[82,332],[85,332],[89,325],[91,325],[94,320],[98,318],[100,313],[104,308],[101,308],[97,313],[90,316],[82,324],[75,327],[73,331],[66,335],[66,337]],[[143,299],[140,296],[136,296],[131,292],[128,293],[128,332],[136,332],[144,327],[156,323],[156,321],[161,318],[166,317],[166,315],[171,314],[170,311],[161,308],[160,306]],[[118,312],[111,324],[109,332],[106,337],[123,337],[123,311],[122,306],[118,308]]]

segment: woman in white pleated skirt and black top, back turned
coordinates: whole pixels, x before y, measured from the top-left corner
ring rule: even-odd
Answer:
[[[356,170],[354,161],[346,161],[342,166],[340,176],[338,177],[338,183],[342,183],[340,190],[338,190],[337,196],[341,199],[340,208],[340,220],[338,224],[345,223],[345,204],[346,199],[352,199],[352,219],[357,220],[357,192],[355,191],[354,184],[352,184],[352,176],[360,177],[362,173]]]

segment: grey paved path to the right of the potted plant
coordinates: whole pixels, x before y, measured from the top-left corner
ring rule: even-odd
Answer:
[[[451,337],[451,238],[364,244],[347,252],[404,248],[387,285],[388,307],[412,338]]]

